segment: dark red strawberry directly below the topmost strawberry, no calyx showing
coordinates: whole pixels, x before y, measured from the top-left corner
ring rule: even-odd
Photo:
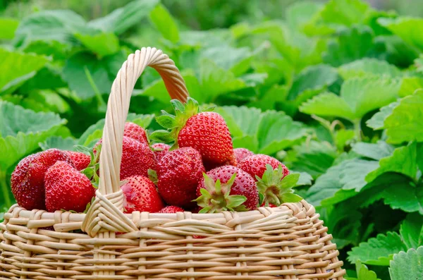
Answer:
[[[168,152],[158,164],[157,187],[168,205],[195,207],[195,190],[205,172],[200,152],[191,147]]]

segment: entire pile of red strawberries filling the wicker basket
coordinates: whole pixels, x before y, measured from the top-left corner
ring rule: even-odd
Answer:
[[[156,118],[166,130],[148,137],[137,124],[125,124],[120,176],[126,213],[247,211],[301,200],[293,193],[299,175],[274,157],[233,149],[222,116],[200,112],[194,99],[171,103],[175,115]],[[86,153],[50,149],[22,159],[11,177],[18,204],[85,212],[99,180],[101,145],[99,140]]]

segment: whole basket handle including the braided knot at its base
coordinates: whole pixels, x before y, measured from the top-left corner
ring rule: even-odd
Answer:
[[[99,189],[90,210],[82,223],[82,230],[90,236],[106,232],[130,232],[137,227],[123,210],[121,190],[121,159],[123,129],[128,116],[130,97],[142,71],[150,66],[161,75],[172,99],[185,102],[188,90],[175,63],[163,51],[156,48],[142,48],[130,54],[123,63],[111,87],[104,123],[102,152],[100,154]],[[99,236],[101,237],[101,236]]]

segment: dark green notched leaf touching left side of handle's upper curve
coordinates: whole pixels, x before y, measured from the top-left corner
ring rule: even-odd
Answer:
[[[78,52],[66,61],[63,68],[63,79],[66,80],[71,90],[74,90],[78,97],[88,99],[96,96],[96,90],[87,77],[88,72],[99,93],[109,93],[118,73],[118,69],[116,72],[114,70],[114,64],[120,63],[121,65],[123,61],[125,61],[125,57],[121,53],[98,60],[96,56],[89,52]]]

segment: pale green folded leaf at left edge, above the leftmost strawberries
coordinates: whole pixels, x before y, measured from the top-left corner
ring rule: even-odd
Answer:
[[[35,113],[0,101],[0,170],[6,171],[19,159],[37,150],[66,123],[53,113]]]

